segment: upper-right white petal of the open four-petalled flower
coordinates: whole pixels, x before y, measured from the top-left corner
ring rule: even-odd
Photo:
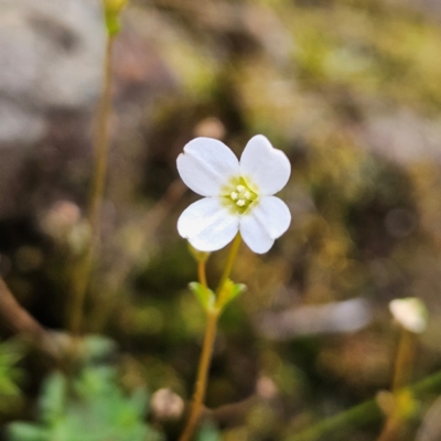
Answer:
[[[259,194],[271,195],[284,187],[291,174],[287,155],[262,135],[252,137],[240,157],[240,174],[257,185]]]

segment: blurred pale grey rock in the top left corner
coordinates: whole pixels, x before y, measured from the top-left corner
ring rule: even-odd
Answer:
[[[98,1],[0,0],[0,147],[44,135],[44,114],[89,109],[105,32]]]

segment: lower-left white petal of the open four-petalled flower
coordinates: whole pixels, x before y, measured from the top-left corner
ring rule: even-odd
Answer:
[[[178,219],[179,234],[201,251],[225,247],[239,230],[239,216],[232,215],[217,197],[190,205]]]

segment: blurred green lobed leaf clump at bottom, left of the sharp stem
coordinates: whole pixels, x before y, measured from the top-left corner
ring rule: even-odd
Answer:
[[[11,441],[162,441],[147,422],[149,395],[126,394],[114,366],[88,366],[73,380],[52,374],[42,388],[40,426],[9,426]]]

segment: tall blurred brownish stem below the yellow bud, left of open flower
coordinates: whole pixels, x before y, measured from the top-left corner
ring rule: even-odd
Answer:
[[[90,225],[90,239],[82,259],[73,270],[73,300],[72,314],[69,320],[69,331],[78,336],[82,331],[84,301],[90,281],[94,252],[99,241],[100,216],[103,207],[103,194],[107,174],[107,158],[109,150],[108,123],[111,114],[111,52],[114,37],[108,36],[106,45],[106,57],[104,64],[104,85],[101,98],[98,105],[96,132],[94,140],[95,163],[94,180],[92,183],[88,220]]]

